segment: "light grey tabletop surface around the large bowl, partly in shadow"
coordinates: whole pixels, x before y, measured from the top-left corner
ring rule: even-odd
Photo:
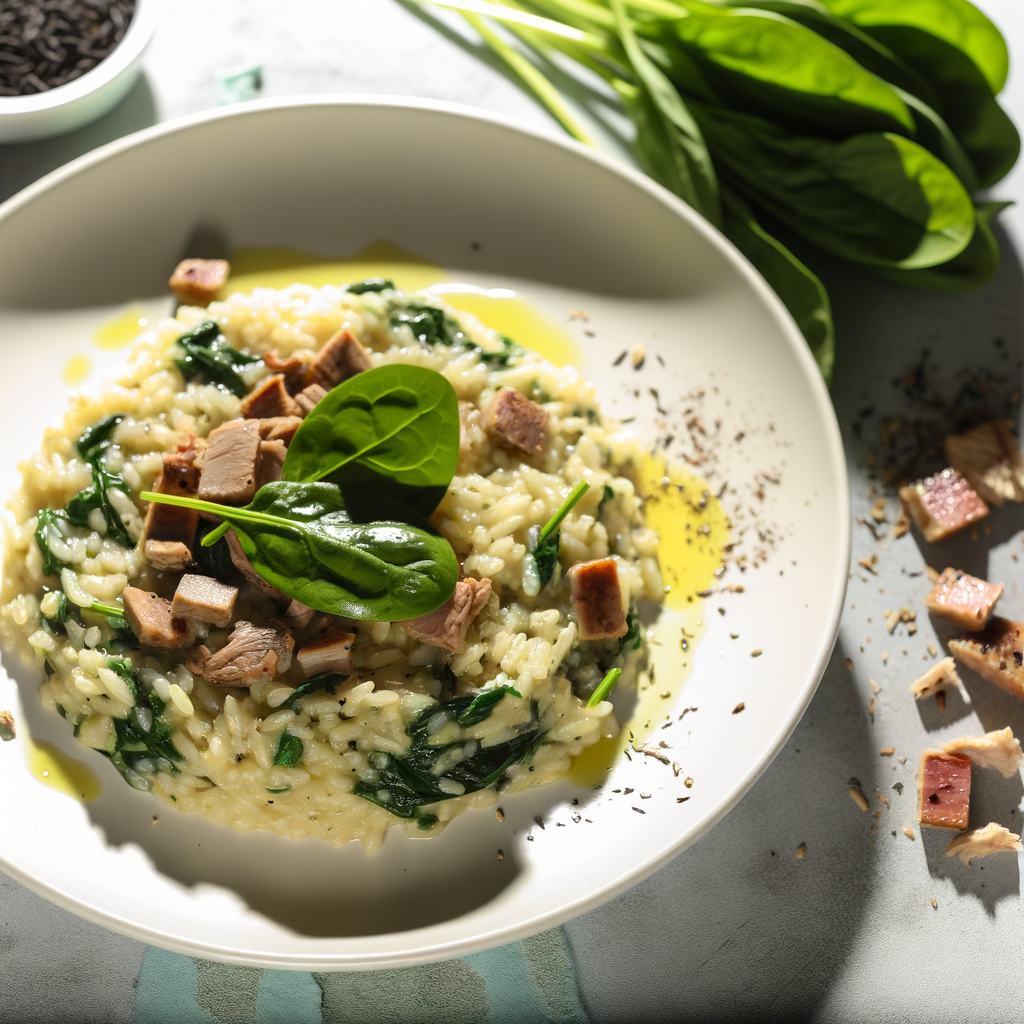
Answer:
[[[1024,16],[1010,0],[983,6],[1012,51],[1024,52]],[[143,78],[117,110],[62,138],[0,146],[0,199],[110,139],[213,105],[217,73],[252,61],[263,65],[263,95],[430,96],[558,130],[472,47],[442,38],[391,0],[175,0]],[[1012,78],[1005,101],[1024,122],[1024,78]],[[1022,179],[1015,173],[994,194],[1024,195]],[[855,518],[870,508],[880,425],[937,422],[933,406],[905,386],[924,350],[927,394],[949,399],[964,383],[962,369],[975,377],[987,371],[991,395],[1010,395],[1018,414],[1019,395],[1011,393],[1022,377],[1024,275],[1014,240],[1024,240],[1022,217],[1011,211],[1004,218],[1002,269],[971,295],[902,291],[816,262],[836,312],[834,399]],[[873,413],[863,417],[868,407]],[[946,859],[943,840],[915,825],[914,769],[924,746],[952,735],[1002,725],[1024,734],[1024,708],[975,677],[966,678],[969,702],[950,699],[945,713],[915,705],[907,687],[932,660],[929,646],[941,655],[946,637],[923,611],[926,561],[1005,582],[1000,609],[1024,615],[1024,511],[998,510],[977,542],[941,546],[915,535],[892,540],[894,514],[890,501],[888,539],[855,526],[836,651],[807,715],[764,776],[700,843],[566,926],[592,1020],[1020,1016],[1019,860],[1001,855],[969,869]],[[872,571],[858,564],[872,555]],[[919,629],[911,636],[899,626],[890,635],[883,613],[903,605],[919,611]],[[893,756],[880,755],[890,746]],[[851,777],[878,817],[850,799]],[[977,823],[997,820],[1020,831],[1022,795],[1019,778],[980,773]],[[904,825],[913,826],[912,840]],[[798,859],[801,844],[807,855]],[[142,952],[0,877],[0,1022],[130,1020]]]

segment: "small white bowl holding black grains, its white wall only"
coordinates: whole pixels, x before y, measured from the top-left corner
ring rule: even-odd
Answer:
[[[102,117],[135,84],[162,0],[136,0],[124,39],[81,78],[46,92],[0,96],[0,142],[28,142],[74,131]]]

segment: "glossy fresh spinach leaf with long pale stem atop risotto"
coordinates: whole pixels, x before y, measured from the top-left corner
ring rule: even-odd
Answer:
[[[234,527],[267,583],[318,611],[396,622],[455,593],[459,562],[440,534],[394,498],[336,483],[267,483],[242,508],[145,492],[143,501],[211,512]]]

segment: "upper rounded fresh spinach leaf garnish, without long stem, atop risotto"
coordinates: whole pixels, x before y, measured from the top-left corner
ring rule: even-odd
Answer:
[[[459,464],[459,399],[447,379],[391,364],[328,392],[302,421],[282,475],[392,495],[429,516]]]

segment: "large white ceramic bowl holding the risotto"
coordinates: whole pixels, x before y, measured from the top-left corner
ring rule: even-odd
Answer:
[[[676,722],[658,735],[679,776],[637,756],[602,793],[562,781],[503,799],[504,822],[477,811],[429,841],[392,830],[374,856],[168,812],[78,746],[41,709],[39,677],[8,657],[17,678],[0,677],[0,708],[37,738],[90,759],[104,793],[75,803],[35,780],[22,737],[0,743],[0,866],[91,921],[168,948],[263,967],[365,969],[461,955],[554,926],[707,833],[807,707],[847,580],[839,429],[803,339],[761,278],[647,178],[478,112],[292,99],[161,125],[0,207],[0,402],[18,424],[0,459],[0,490],[17,484],[15,461],[61,416],[66,359],[89,350],[91,331],[129,300],[167,310],[168,270],[197,229],[232,248],[339,256],[386,239],[455,280],[512,287],[559,323],[586,309],[589,321],[571,329],[606,408],[637,416],[652,436],[650,387],[677,411],[683,393],[702,387],[709,428],[721,418],[729,431],[723,476],[738,485],[778,471],[763,500],[780,542],[761,568],[726,578],[741,579],[744,593],[710,603],[693,675],[662,709]],[[614,365],[638,340],[648,345],[644,370]],[[97,373],[119,357],[91,354]],[[742,443],[733,431],[745,432]],[[678,637],[673,644],[678,651]],[[763,655],[752,658],[753,648]],[[740,701],[745,711],[734,714]],[[680,724],[692,706],[699,711]],[[626,787],[650,799],[610,793]]]

